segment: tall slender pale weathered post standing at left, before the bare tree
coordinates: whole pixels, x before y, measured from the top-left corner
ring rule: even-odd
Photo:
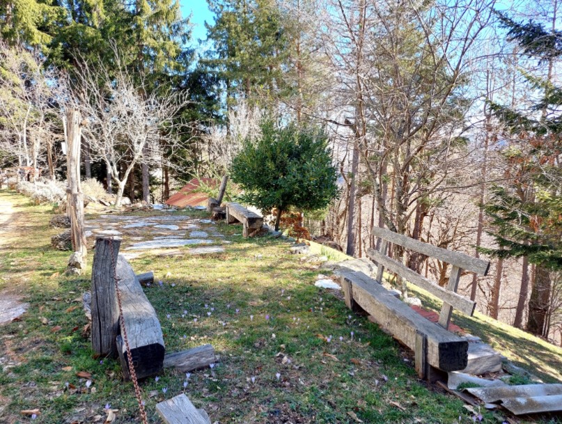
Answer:
[[[80,187],[80,113],[70,109],[66,116],[67,180],[66,202],[70,218],[72,255],[68,262],[69,274],[81,274],[86,267],[86,235],[84,233],[84,194]]]

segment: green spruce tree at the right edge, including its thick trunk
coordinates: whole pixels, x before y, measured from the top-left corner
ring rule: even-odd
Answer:
[[[553,272],[562,271],[562,88],[552,83],[556,58],[562,56],[562,31],[545,29],[536,22],[515,22],[500,15],[508,40],[517,42],[524,54],[547,64],[547,77],[525,74],[540,98],[526,110],[490,104],[506,126],[510,148],[504,154],[509,180],[494,187],[485,205],[497,249],[484,249],[499,258],[527,257],[536,265],[529,300],[527,330],[547,337],[552,310]],[[517,187],[527,187],[531,196],[521,196]]]

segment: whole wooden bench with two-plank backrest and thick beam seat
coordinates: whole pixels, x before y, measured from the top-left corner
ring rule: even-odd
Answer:
[[[485,275],[490,262],[419,242],[384,228],[373,228],[373,234],[382,239],[380,251],[367,250],[367,255],[377,262],[377,278],[362,272],[344,272],[341,287],[345,304],[355,311],[366,311],[384,331],[413,350],[416,371],[421,378],[432,379],[436,370],[450,372],[467,368],[469,342],[447,328],[453,308],[471,316],[476,307],[474,301],[456,292],[462,270]],[[386,255],[389,242],[453,265],[447,288],[389,258]],[[426,320],[380,284],[385,267],[443,300],[438,323]]]

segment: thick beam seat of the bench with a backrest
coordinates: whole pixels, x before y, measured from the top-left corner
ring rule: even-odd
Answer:
[[[416,349],[417,331],[426,336],[426,363],[444,371],[458,371],[467,366],[468,342],[426,320],[403,301],[396,299],[382,285],[362,272],[343,272],[341,278],[352,283],[354,301],[375,317],[383,329],[412,350]]]

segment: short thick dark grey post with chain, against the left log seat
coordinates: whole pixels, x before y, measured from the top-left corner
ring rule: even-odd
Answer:
[[[113,244],[113,260],[111,247]],[[114,265],[121,240],[108,237],[95,239],[92,263],[92,349],[95,354],[117,356],[116,337],[119,334],[119,308],[115,292]]]

